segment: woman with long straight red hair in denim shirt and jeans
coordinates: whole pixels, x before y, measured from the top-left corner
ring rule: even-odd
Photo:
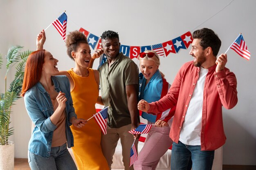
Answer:
[[[70,82],[58,73],[56,60],[49,51],[38,50],[27,59],[22,96],[27,113],[36,127],[29,141],[31,170],[76,170],[67,150],[74,146],[70,125],[81,128],[70,95]]]

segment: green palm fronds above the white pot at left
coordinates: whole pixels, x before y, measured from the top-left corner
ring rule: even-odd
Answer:
[[[25,64],[27,57],[32,51],[23,51],[20,52],[22,46],[11,46],[7,52],[7,72],[16,65],[16,73],[14,79],[11,81],[9,90],[6,90],[6,82],[8,77],[5,80],[5,93],[0,93],[0,144],[8,145],[8,139],[10,135],[13,135],[13,127],[9,128],[11,123],[10,114],[11,106],[15,104],[15,101],[20,98],[20,91],[22,89],[22,83],[24,78]],[[0,68],[2,68],[2,55],[0,55]]]

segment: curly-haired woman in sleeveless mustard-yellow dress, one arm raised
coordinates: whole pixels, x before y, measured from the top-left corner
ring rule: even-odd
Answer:
[[[43,49],[45,40],[45,32],[41,31],[37,36],[37,49]],[[83,33],[72,31],[67,35],[65,42],[67,54],[75,61],[75,67],[68,71],[60,71],[59,75],[66,75],[70,80],[70,91],[77,117],[88,119],[96,113],[95,104],[99,97],[99,72],[88,68],[92,56]],[[97,50],[94,55],[101,53]],[[72,151],[78,170],[109,170],[101,151],[101,128],[97,122],[90,119],[82,128],[70,127],[74,135]]]

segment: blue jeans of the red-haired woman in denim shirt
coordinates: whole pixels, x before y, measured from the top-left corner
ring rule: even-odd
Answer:
[[[49,158],[28,152],[28,161],[31,170],[77,170],[67,144],[52,147]]]

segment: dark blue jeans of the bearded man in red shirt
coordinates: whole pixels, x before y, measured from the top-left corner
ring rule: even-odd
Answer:
[[[171,170],[211,170],[214,150],[202,151],[201,146],[173,142]]]

